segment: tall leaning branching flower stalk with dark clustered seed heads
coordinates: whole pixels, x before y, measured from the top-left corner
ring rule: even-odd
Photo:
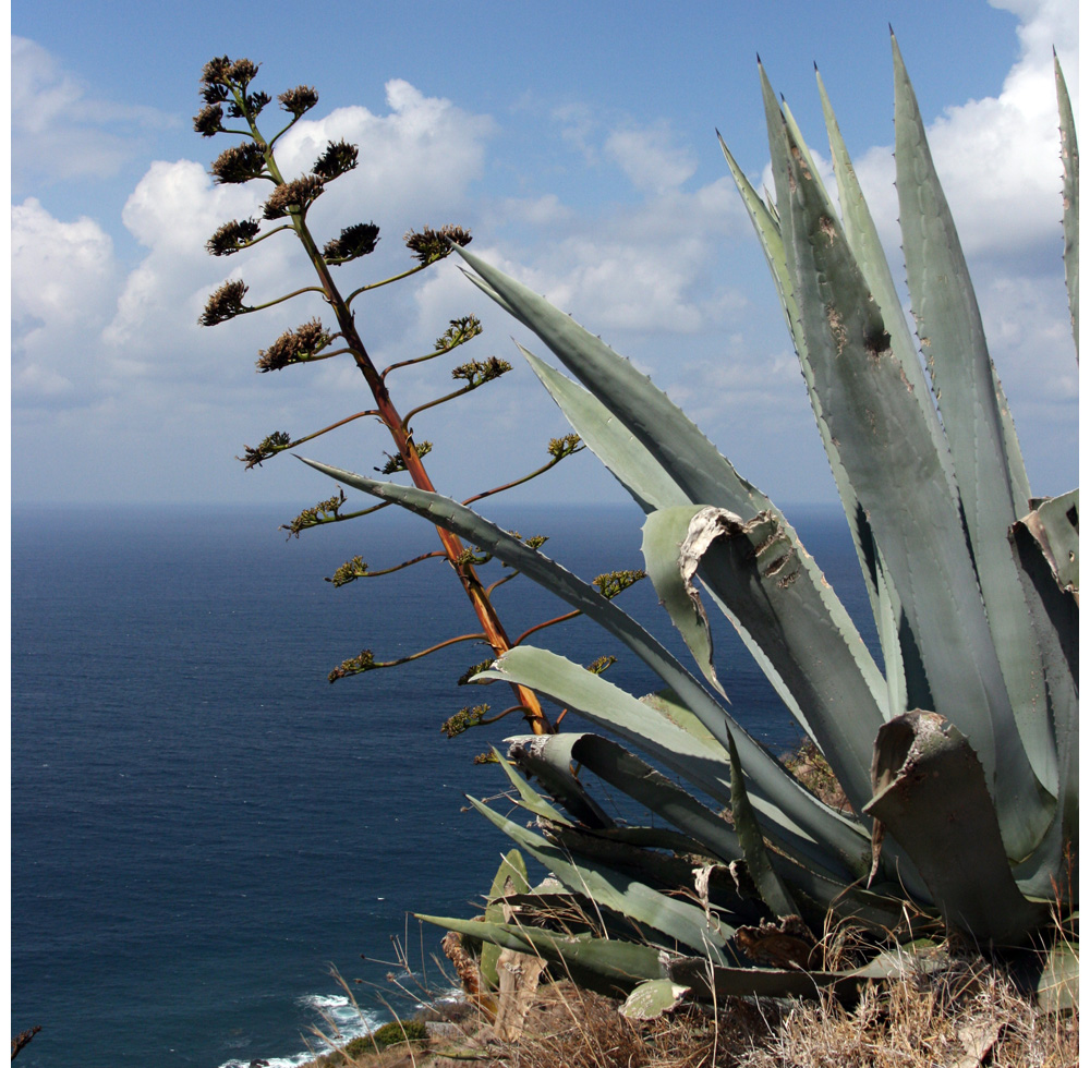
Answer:
[[[206,64],[202,76],[202,93],[206,106],[196,116],[194,128],[203,136],[213,136],[217,133],[235,133],[242,134],[247,138],[241,145],[227,149],[217,158],[213,163],[213,175],[217,182],[228,184],[253,180],[268,181],[274,189],[264,205],[264,219],[277,220],[278,222],[280,220],[283,221],[274,230],[264,234],[259,232],[261,222],[257,220],[247,219],[228,222],[220,227],[209,240],[208,250],[214,255],[231,255],[244,248],[252,247],[259,241],[271,236],[272,233],[292,230],[305,250],[307,258],[311,260],[314,271],[317,275],[319,284],[317,287],[304,287],[287,296],[265,304],[247,305],[244,303],[246,296],[245,284],[240,280],[231,280],[213,293],[201,321],[203,325],[214,326],[239,315],[282,303],[302,293],[320,293],[336,316],[337,335],[331,336],[322,328],[317,320],[312,320],[312,323],[306,324],[304,327],[282,336],[269,350],[263,352],[262,360],[258,362],[259,369],[278,369],[290,363],[308,362],[315,359],[324,359],[327,355],[331,356],[342,353],[351,355],[375,400],[375,408],[373,410],[360,414],[374,414],[377,416],[386,426],[393,440],[396,447],[393,459],[398,461],[397,466],[399,469],[403,468],[408,472],[414,486],[420,489],[434,491],[435,486],[421,460],[423,450],[413,440],[412,428],[409,425],[410,418],[426,408],[432,408],[435,404],[453,399],[471,389],[475,389],[494,377],[498,377],[499,374],[509,369],[510,365],[493,357],[484,364],[474,361],[471,364],[456,368],[455,377],[463,379],[465,383],[462,388],[438,401],[421,405],[411,411],[407,416],[402,416],[395,405],[386,385],[386,376],[393,367],[399,365],[388,367],[382,373],[376,368],[356,329],[351,303],[356,296],[368,290],[388,284],[390,281],[396,281],[400,278],[409,277],[437,263],[449,254],[452,244],[465,244],[469,242],[470,235],[467,231],[457,227],[445,227],[438,231],[425,228],[420,233],[410,232],[405,235],[405,243],[419,260],[415,266],[393,278],[360,287],[351,292],[348,298],[342,296],[337,283],[334,281],[330,266],[347,263],[372,252],[378,238],[378,228],[374,223],[350,227],[342,230],[340,238],[330,241],[325,250],[322,251],[307,226],[306,213],[310,205],[322,195],[328,182],[334,181],[355,167],[358,150],[354,146],[343,142],[331,143],[312,168],[313,173],[294,180],[288,180],[277,162],[275,145],[288,130],[307,111],[314,108],[318,99],[317,93],[308,86],[299,86],[281,94],[279,102],[282,109],[289,113],[290,120],[274,137],[266,138],[257,125],[257,118],[262,110],[271,102],[271,98],[265,93],[251,92],[250,85],[256,74],[257,65],[245,59],[231,61],[228,57],[222,57],[214,59]],[[227,117],[231,120],[237,120],[238,126],[241,129],[230,129],[223,125],[225,109]],[[449,351],[462,341],[475,336],[476,332],[480,332],[480,326],[477,325],[474,328],[469,319],[452,323],[451,330],[448,330],[447,335],[440,339],[436,347],[437,351],[432,355],[439,355],[443,352]],[[319,350],[330,345],[334,337],[340,338],[343,341],[343,348],[339,348],[336,352],[323,352],[318,355]],[[405,361],[402,365],[413,362],[415,361]],[[350,418],[358,417],[360,415],[350,416]],[[338,423],[334,423],[331,426],[326,427],[325,430],[319,430],[318,434],[340,426],[346,422],[349,422],[349,420],[341,420]],[[317,435],[307,435],[304,438],[292,441],[287,434],[278,433],[266,438],[256,449],[247,447],[246,456],[243,459],[245,459],[247,468],[254,466],[255,464],[259,464],[262,460],[269,459],[278,452],[292,448],[294,445],[300,444],[300,441],[315,436]],[[567,454],[570,454],[571,451],[574,451],[574,447],[569,448]],[[552,465],[553,463],[549,463],[546,466]],[[304,517],[301,515],[296,520],[296,523],[292,524],[291,532],[298,534],[299,530],[305,525],[317,525],[322,522],[348,518],[347,513],[342,514],[339,511],[341,502],[343,502],[343,494],[340,495],[340,499],[334,498],[330,501],[323,502],[323,505],[319,505],[315,509],[311,509],[310,511],[314,513],[313,517],[308,517],[307,521],[303,521]],[[371,510],[366,509],[365,512]],[[351,514],[363,513],[356,512]],[[488,592],[477,577],[475,570],[477,558],[474,557],[472,551],[467,549],[457,535],[443,527],[436,527],[436,530],[443,545],[443,555],[446,556],[455,573],[458,575],[458,580],[481,623],[481,634],[471,636],[483,639],[492,647],[493,653],[496,656],[500,656],[511,648],[512,643],[492,604]],[[451,641],[468,640],[469,636],[462,635]],[[451,642],[440,643],[433,646],[432,651],[449,644]],[[404,663],[415,659],[421,655],[423,653],[414,654],[412,657],[403,657],[397,662],[390,662],[390,666],[393,663]],[[361,657],[356,658],[356,660],[360,663],[353,664],[351,668],[349,667],[350,662],[346,662],[340,668],[335,670],[334,676],[339,677],[338,672],[355,673],[358,670],[370,670],[373,667],[387,666],[386,664],[380,665],[376,663],[370,653],[361,654]],[[537,735],[550,733],[553,727],[542,711],[536,695],[525,687],[518,684],[512,685],[512,690],[517,697],[517,707],[522,711],[533,732]]]

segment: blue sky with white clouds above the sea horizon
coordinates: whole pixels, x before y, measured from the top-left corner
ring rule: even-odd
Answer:
[[[371,406],[340,360],[256,373],[258,350],[320,313],[313,295],[197,324],[228,278],[262,302],[311,283],[287,234],[230,258],[205,252],[220,223],[255,214],[266,193],[264,183],[215,185],[210,161],[237,138],[192,129],[201,69],[222,54],[259,62],[254,86],[272,97],[318,89],[317,108],[280,144],[282,168],[303,173],[329,138],[360,145],[359,168],[310,216],[319,241],[355,222],[380,227],[374,255],[337,268],[344,288],[410,266],[410,229],[468,228],[472,251],[629,356],[774,500],[834,500],[715,131],[758,187],[771,187],[760,54],[824,166],[816,63],[903,278],[889,23],[1033,491],[1070,488],[1078,372],[1052,48],[1078,120],[1077,0],[15,0],[13,500],[302,508],[332,489],[288,456],[254,471],[234,459],[274,430],[300,437]],[[354,306],[379,366],[428,352],[452,318],[482,320],[483,336],[457,360],[391,375],[402,412],[448,392],[455,363],[516,364],[414,421],[417,439],[434,442],[427,463],[440,491],[464,497],[517,478],[567,433],[512,339],[547,351],[452,260]],[[300,451],[371,474],[390,448],[384,433],[359,420]],[[516,499],[625,495],[581,453]]]

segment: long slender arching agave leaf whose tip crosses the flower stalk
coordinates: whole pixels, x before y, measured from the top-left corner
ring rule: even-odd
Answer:
[[[852,878],[858,877],[867,870],[865,862],[861,862],[857,852],[858,846],[856,844],[858,844],[858,836],[861,835],[858,825],[832,812],[795,782],[776,758],[751,738],[720,705],[713,701],[707,691],[681,667],[669,652],[611,600],[603,597],[592,585],[577,579],[570,571],[561,568],[548,557],[528,548],[518,538],[449,498],[426,493],[413,486],[376,482],[373,478],[342,471],[339,468],[330,468],[313,460],[303,459],[303,462],[344,485],[362,489],[364,493],[370,493],[385,500],[393,500],[423,515],[429,522],[453,531],[472,544],[481,546],[502,562],[516,568],[526,578],[544,585],[552,593],[567,600],[573,608],[581,609],[588,617],[601,623],[609,633],[625,642],[644,664],[674,690],[679,700],[716,738],[724,754],[726,753],[726,730],[729,724],[747,775],[750,776],[751,796],[759,803],[759,806],[762,803],[766,805],[762,811],[768,820],[786,821],[785,826],[799,828],[797,833],[806,835],[811,841],[831,841],[833,848],[840,850],[845,858],[851,858],[850,871],[856,873],[851,876]],[[524,652],[530,652],[529,647],[520,646],[520,648],[511,651],[511,653]],[[541,650],[532,652],[542,653]],[[511,653],[507,655],[510,656]],[[562,657],[558,657],[558,659],[562,660]],[[583,675],[597,678],[589,671],[580,670]],[[630,700],[641,712],[646,712],[634,697]],[[662,717],[656,718],[662,719]],[[639,741],[637,743],[640,744]],[[852,844],[850,848],[849,842]],[[816,863],[820,864],[820,860]]]

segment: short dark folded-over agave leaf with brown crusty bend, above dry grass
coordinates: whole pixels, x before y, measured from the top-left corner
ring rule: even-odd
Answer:
[[[981,763],[949,720],[930,712],[891,720],[872,778],[868,811],[916,862],[947,924],[1015,945],[1047,919],[1014,881]]]

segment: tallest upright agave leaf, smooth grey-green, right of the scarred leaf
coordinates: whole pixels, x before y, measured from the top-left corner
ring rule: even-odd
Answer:
[[[896,39],[893,48],[897,194],[916,329],[938,397],[972,559],[1015,720],[1033,770],[1055,793],[1055,754],[1036,712],[1044,705],[1040,657],[1005,544],[1010,524],[1028,507],[1026,466]],[[941,700],[936,695],[936,706]],[[1015,743],[1003,739],[1001,744]]]

